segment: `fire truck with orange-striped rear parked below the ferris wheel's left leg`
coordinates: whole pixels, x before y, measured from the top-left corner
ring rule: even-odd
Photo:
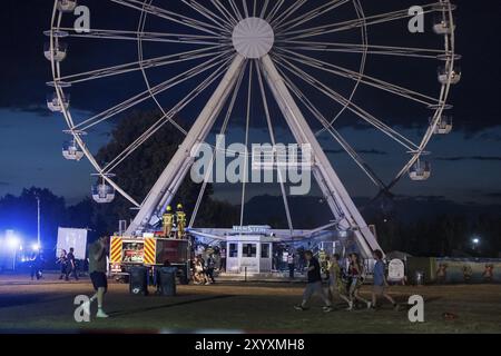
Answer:
[[[155,269],[167,261],[177,267],[181,284],[189,281],[189,260],[191,246],[188,239],[173,239],[153,236],[124,237],[112,236],[110,239],[110,271],[117,280],[126,280],[135,266],[148,267],[151,276]]]

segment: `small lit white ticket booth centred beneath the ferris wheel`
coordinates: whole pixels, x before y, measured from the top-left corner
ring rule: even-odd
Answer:
[[[239,274],[272,271],[272,238],[259,235],[229,236],[226,240],[226,270]]]

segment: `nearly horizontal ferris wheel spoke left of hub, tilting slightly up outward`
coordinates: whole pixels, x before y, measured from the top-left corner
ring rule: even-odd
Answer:
[[[104,30],[104,29],[91,29],[89,32],[73,33],[75,29],[72,28],[61,28],[60,30],[68,32],[68,37],[73,38],[129,40],[129,41],[137,41],[138,39],[140,39],[141,41],[145,42],[167,42],[180,44],[215,46],[222,43],[222,41],[226,39],[224,36],[208,36],[208,34],[203,36],[203,34],[185,34],[185,33]]]

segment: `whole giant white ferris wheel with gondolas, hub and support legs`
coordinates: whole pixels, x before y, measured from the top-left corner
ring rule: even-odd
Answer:
[[[139,234],[158,222],[194,162],[190,149],[206,141],[218,118],[224,121],[222,134],[226,132],[238,98],[244,98],[245,102],[246,145],[249,144],[250,108],[259,102],[259,115],[265,118],[272,142],[276,140],[275,113],[271,109],[275,105],[295,141],[311,146],[313,176],[333,212],[333,221],[340,229],[354,231],[365,255],[379,248],[377,241],[333,168],[325,152],[325,140],[321,138],[325,136],[340,145],[369,181],[389,191],[405,177],[413,181],[429,179],[431,165],[426,160],[426,147],[434,135],[452,130],[452,117],[448,113],[452,106],[448,99],[451,87],[461,79],[461,70],[454,46],[455,7],[449,0],[422,0],[424,3],[418,12],[404,7],[405,1],[394,1],[401,8],[391,8],[387,3],[363,0],[107,0],[100,2],[111,9],[107,12],[109,17],[116,9],[130,16],[135,27],[76,29],[73,12],[86,2],[91,1],[55,1],[51,27],[46,31],[49,40],[45,55],[53,75],[48,82],[53,92],[47,103],[50,110],[63,116],[68,126],[65,132],[69,140],[63,145],[63,157],[75,161],[86,157],[96,170],[94,199],[106,204],[119,194],[138,209],[127,234]],[[415,16],[425,19],[430,16],[434,20],[423,33],[414,34],[416,43],[423,46],[383,43],[383,40],[399,37],[384,36],[384,31],[401,32],[405,43],[412,42],[414,38],[407,22]],[[100,13],[100,17],[106,14]],[[131,21],[111,23],[130,26]],[[373,34],[379,38],[376,44],[371,42]],[[71,63],[72,49],[82,43],[89,48],[95,41],[116,47],[135,43],[135,59],[124,62],[118,56],[114,58],[117,51],[110,51],[111,58],[107,59],[114,65],[107,61],[79,72],[67,70],[72,68],[66,66]],[[377,75],[370,72],[372,58],[376,59],[372,66],[379,67],[375,68]],[[439,68],[438,76],[430,75],[430,66]],[[159,75],[161,68],[168,69],[165,77]],[[393,68],[407,68],[409,72],[418,73],[420,85],[413,87],[412,80],[400,81],[405,78],[399,73],[385,78]],[[75,93],[76,88],[95,85],[99,92],[101,80],[130,75],[141,76],[143,88],[137,88],[137,93],[120,102],[109,102],[109,107],[87,118],[75,117],[70,92]],[[423,86],[425,77],[435,79],[426,80]],[[364,97],[371,96],[371,90],[377,95],[383,92],[389,98],[384,103],[387,111],[392,111],[393,106],[407,103],[420,107],[428,112],[426,120],[421,121],[424,135],[419,140],[406,137],[395,122],[371,112],[358,95],[361,90]],[[165,93],[178,95],[178,101],[166,103]],[[138,132],[117,157],[100,162],[88,146],[94,129],[145,102],[158,108],[158,119],[147,130]],[[197,112],[189,127],[177,120],[185,110]],[[343,118],[381,132],[384,139],[395,144],[400,154],[406,155],[402,166],[392,172],[392,179],[381,178],[343,137],[340,129]],[[166,125],[178,130],[184,141],[170,161],[166,161],[164,172],[149,194],[140,199],[132,197],[117,184],[117,168]],[[206,186],[204,184],[202,190]],[[243,182],[242,224],[245,189]],[[293,234],[295,226],[283,185],[281,191]],[[190,226],[203,195],[200,191]]]

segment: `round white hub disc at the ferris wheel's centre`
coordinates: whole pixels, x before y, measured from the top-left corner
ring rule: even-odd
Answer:
[[[233,47],[247,59],[266,56],[275,42],[272,26],[259,18],[246,18],[233,30]]]

